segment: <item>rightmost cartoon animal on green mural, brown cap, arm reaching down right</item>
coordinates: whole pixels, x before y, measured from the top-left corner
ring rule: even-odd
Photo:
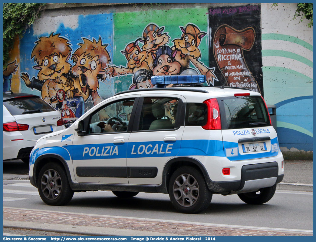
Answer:
[[[189,61],[191,61],[201,74],[206,75],[208,85],[214,86],[215,81],[218,81],[214,73],[215,67],[208,68],[204,63],[198,60],[201,57],[198,46],[206,33],[201,32],[194,24],[187,24],[185,28],[182,26],[179,27],[182,31],[182,36],[180,39],[173,40],[174,46],[172,47],[173,50],[177,50],[175,59],[185,69],[190,67]]]

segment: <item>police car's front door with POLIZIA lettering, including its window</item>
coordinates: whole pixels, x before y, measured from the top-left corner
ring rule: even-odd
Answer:
[[[112,101],[91,113],[85,136],[75,133],[73,167],[77,182],[128,184],[127,141],[135,98]]]

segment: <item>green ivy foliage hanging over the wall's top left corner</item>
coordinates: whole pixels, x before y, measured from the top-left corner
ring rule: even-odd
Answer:
[[[3,66],[9,60],[15,37],[25,33],[46,5],[47,3],[3,3]]]

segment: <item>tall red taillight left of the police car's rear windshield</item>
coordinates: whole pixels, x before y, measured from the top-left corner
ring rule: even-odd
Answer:
[[[203,102],[207,105],[207,123],[202,126],[205,130],[220,130],[222,129],[221,124],[221,113],[216,98],[208,99]]]

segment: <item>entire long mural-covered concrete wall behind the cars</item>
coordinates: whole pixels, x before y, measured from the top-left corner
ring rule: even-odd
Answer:
[[[228,77],[277,106],[282,147],[313,150],[313,28],[291,21],[295,4],[270,7],[50,4],[16,41],[3,90],[40,95],[72,122],[116,92],[153,87],[151,75]]]

